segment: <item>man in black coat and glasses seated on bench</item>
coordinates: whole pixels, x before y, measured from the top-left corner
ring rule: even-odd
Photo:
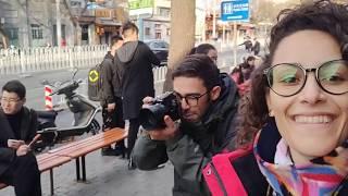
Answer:
[[[36,135],[37,115],[25,103],[25,87],[10,81],[2,87],[0,109],[0,182],[16,196],[40,196],[40,172],[28,144]]]

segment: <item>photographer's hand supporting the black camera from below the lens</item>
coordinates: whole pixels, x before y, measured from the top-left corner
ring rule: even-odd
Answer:
[[[169,115],[164,115],[165,128],[148,131],[150,138],[153,140],[167,140],[175,137],[179,130],[177,123],[175,123]]]

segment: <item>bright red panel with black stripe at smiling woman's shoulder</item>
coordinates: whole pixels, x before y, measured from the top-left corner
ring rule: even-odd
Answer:
[[[213,196],[248,195],[232,162],[250,154],[252,146],[249,146],[246,149],[216,155],[212,158],[212,161],[203,169],[203,175]]]

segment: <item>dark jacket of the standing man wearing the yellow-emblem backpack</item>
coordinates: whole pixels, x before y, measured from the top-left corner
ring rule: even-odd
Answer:
[[[116,98],[122,96],[123,70],[114,61],[114,57],[109,51],[101,63],[101,106],[114,103]]]

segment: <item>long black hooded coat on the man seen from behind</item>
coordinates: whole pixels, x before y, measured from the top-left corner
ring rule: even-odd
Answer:
[[[142,41],[125,42],[117,50],[115,60],[124,69],[123,118],[138,118],[142,99],[147,96],[154,97],[152,64],[160,64],[160,60]]]

